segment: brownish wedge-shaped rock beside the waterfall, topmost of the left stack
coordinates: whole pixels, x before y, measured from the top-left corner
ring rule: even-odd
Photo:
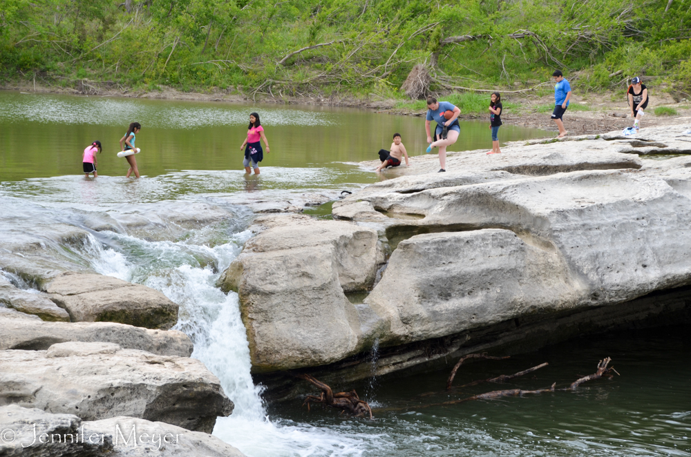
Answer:
[[[164,330],[178,322],[178,305],[165,295],[110,276],[61,273],[43,290],[73,322],[120,322]]]

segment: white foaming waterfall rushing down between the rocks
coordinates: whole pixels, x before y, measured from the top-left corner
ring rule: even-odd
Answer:
[[[84,246],[84,256],[98,273],[146,284],[180,304],[175,327],[194,342],[197,358],[220,379],[234,402],[233,414],[218,418],[214,434],[248,457],[362,456],[372,449],[377,434],[341,433],[290,420],[272,420],[254,385],[245,327],[240,319],[238,295],[215,286],[220,272],[238,255],[250,234],[207,247],[187,242],[149,242],[113,232],[99,234]],[[116,249],[106,246],[117,246]],[[200,264],[205,260],[205,265]],[[343,430],[346,431],[346,430]],[[386,447],[379,443],[377,447]]]

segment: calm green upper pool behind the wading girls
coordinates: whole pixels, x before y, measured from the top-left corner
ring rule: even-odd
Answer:
[[[271,153],[261,167],[327,168],[324,184],[372,182],[373,173],[352,164],[377,159],[377,151],[391,144],[393,133],[403,135],[410,155],[426,148],[424,119],[370,111],[295,106],[245,106],[208,102],[160,101],[29,95],[0,92],[0,167],[2,181],[79,175],[82,151],[96,139],[100,175],[120,176],[125,159],[115,156],[118,141],[130,122],[142,130],[136,145],[142,175],[157,177],[184,171],[241,171],[249,113],[257,111]],[[541,130],[504,126],[502,141],[551,136]],[[451,150],[491,148],[485,122],[464,122],[462,135]],[[216,176],[216,175],[214,175]],[[294,186],[283,177],[264,186]]]

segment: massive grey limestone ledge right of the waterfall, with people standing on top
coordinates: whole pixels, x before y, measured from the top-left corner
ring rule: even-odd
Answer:
[[[343,382],[688,322],[687,128],[451,153],[446,173],[413,157],[333,221],[256,220],[221,284],[240,295],[256,379],[279,398],[296,393],[288,369]]]

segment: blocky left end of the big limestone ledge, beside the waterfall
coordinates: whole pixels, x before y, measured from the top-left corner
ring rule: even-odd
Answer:
[[[256,237],[220,278],[240,295],[253,369],[334,362],[359,351],[357,309],[384,262],[377,231],[307,216],[256,220]]]

